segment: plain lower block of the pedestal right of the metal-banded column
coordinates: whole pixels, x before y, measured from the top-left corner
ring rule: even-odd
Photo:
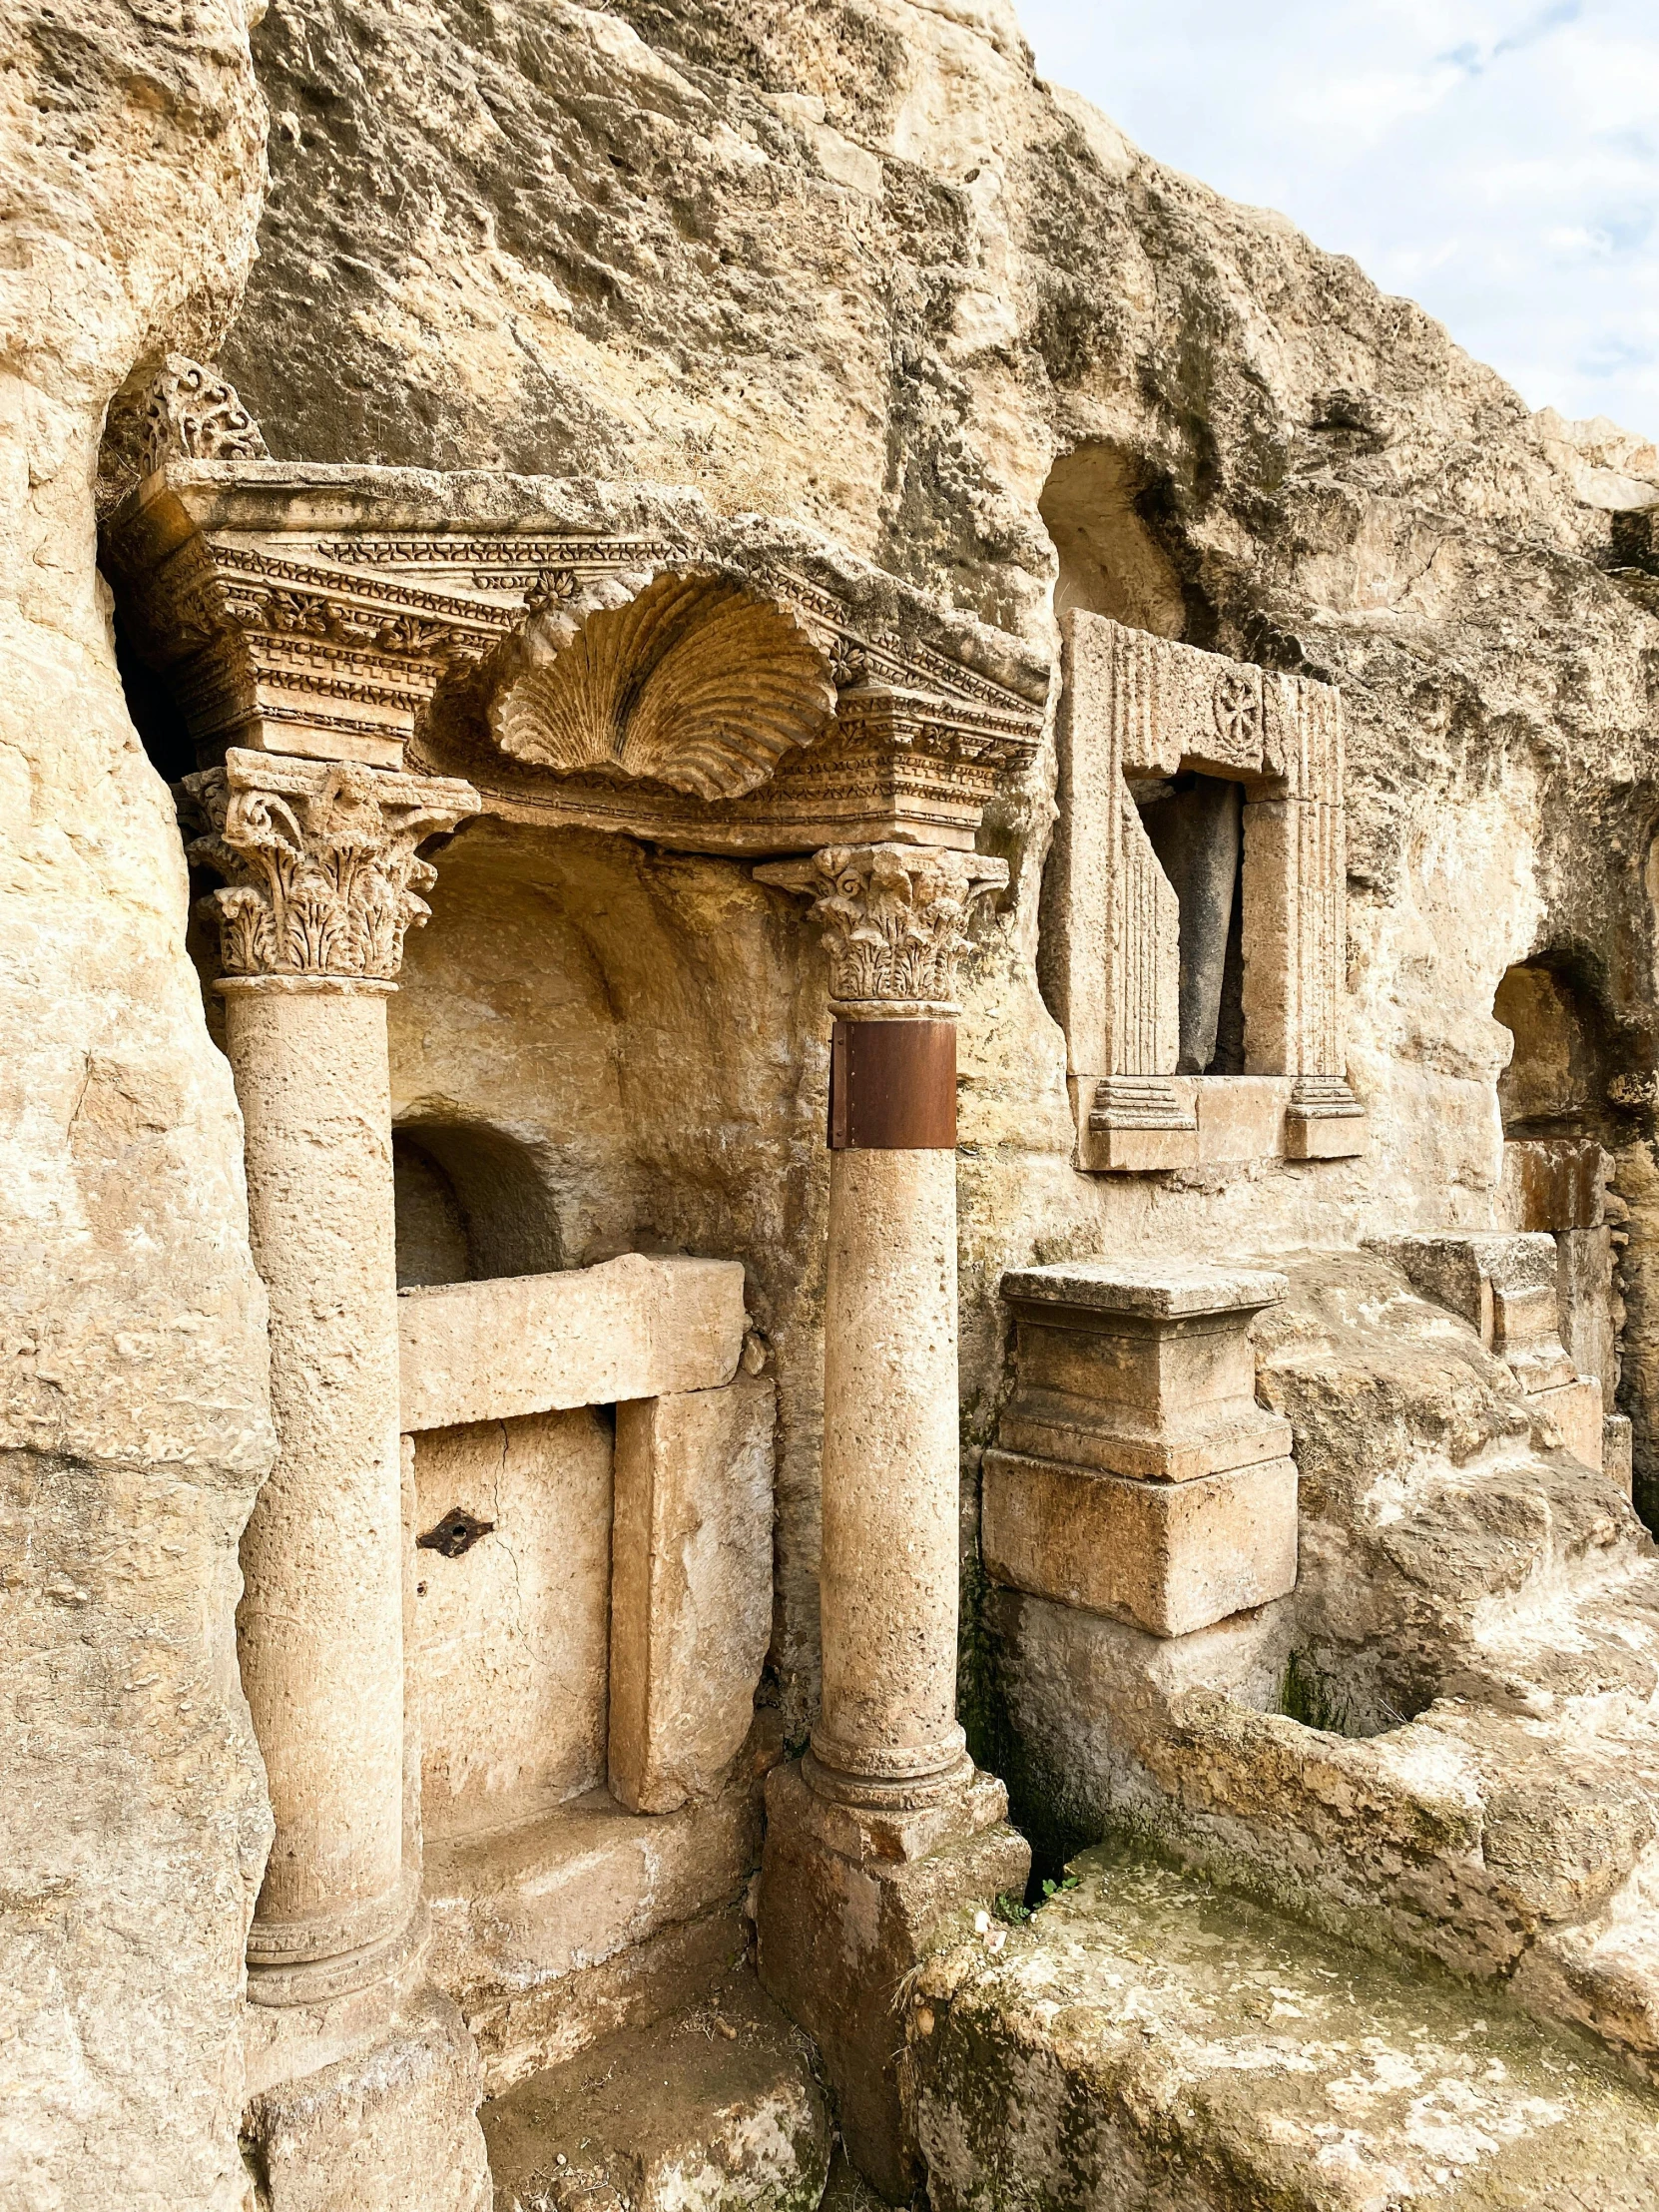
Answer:
[[[1186,1637],[1296,1588],[1296,1464],[1133,1482],[987,1451],[982,1544],[991,1582]]]

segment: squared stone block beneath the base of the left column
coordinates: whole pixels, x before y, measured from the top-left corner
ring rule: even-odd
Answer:
[[[374,1989],[250,2011],[248,2084],[261,2212],[489,2212],[478,2046],[422,1951]]]

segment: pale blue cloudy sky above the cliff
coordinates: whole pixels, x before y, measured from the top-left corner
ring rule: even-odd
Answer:
[[[1018,0],[1037,69],[1533,407],[1659,436],[1659,0]]]

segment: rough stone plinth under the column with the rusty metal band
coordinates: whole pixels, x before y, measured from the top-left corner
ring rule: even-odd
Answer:
[[[847,2154],[889,2203],[920,2179],[900,1984],[971,1933],[975,1911],[1024,1893],[1031,1845],[1006,1816],[1009,1792],[975,1770],[914,1812],[818,1796],[801,1763],[765,1783],[761,1984],[816,2039]]]

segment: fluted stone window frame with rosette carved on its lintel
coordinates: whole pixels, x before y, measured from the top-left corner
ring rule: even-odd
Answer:
[[[1066,615],[1062,639],[1044,984],[1066,1031],[1079,1164],[1234,1157],[1206,1141],[1206,1115],[1217,1141],[1248,1126],[1261,1152],[1360,1150],[1343,1051],[1340,695],[1104,615]],[[1221,843],[1206,852],[1206,838]],[[1206,1071],[1219,1004],[1208,1029],[1192,1004],[1206,958],[1217,1000],[1237,960],[1241,1053],[1223,1075]]]

